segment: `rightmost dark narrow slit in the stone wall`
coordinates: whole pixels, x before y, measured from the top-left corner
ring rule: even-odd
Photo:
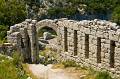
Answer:
[[[115,41],[110,40],[110,67],[114,68]]]

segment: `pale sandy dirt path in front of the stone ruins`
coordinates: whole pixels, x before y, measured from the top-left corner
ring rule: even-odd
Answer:
[[[38,79],[80,79],[84,76],[80,73],[68,72],[65,69],[52,69],[52,65],[30,64],[28,67]]]

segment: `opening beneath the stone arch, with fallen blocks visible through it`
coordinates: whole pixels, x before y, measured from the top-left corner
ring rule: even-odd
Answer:
[[[44,26],[37,31],[39,50],[45,48],[55,49],[57,46],[57,32],[48,26]]]

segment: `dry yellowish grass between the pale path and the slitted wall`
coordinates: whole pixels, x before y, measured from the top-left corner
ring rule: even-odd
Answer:
[[[65,67],[63,64],[54,64],[52,69],[63,69],[66,73],[78,76],[80,79],[111,79],[106,73],[101,72],[101,75],[100,72],[94,71],[91,68]]]

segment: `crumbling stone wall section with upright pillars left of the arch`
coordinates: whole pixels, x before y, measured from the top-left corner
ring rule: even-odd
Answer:
[[[22,23],[11,26],[7,32],[8,43],[22,53],[25,62],[37,63],[38,60],[36,23],[36,20],[26,19]]]

